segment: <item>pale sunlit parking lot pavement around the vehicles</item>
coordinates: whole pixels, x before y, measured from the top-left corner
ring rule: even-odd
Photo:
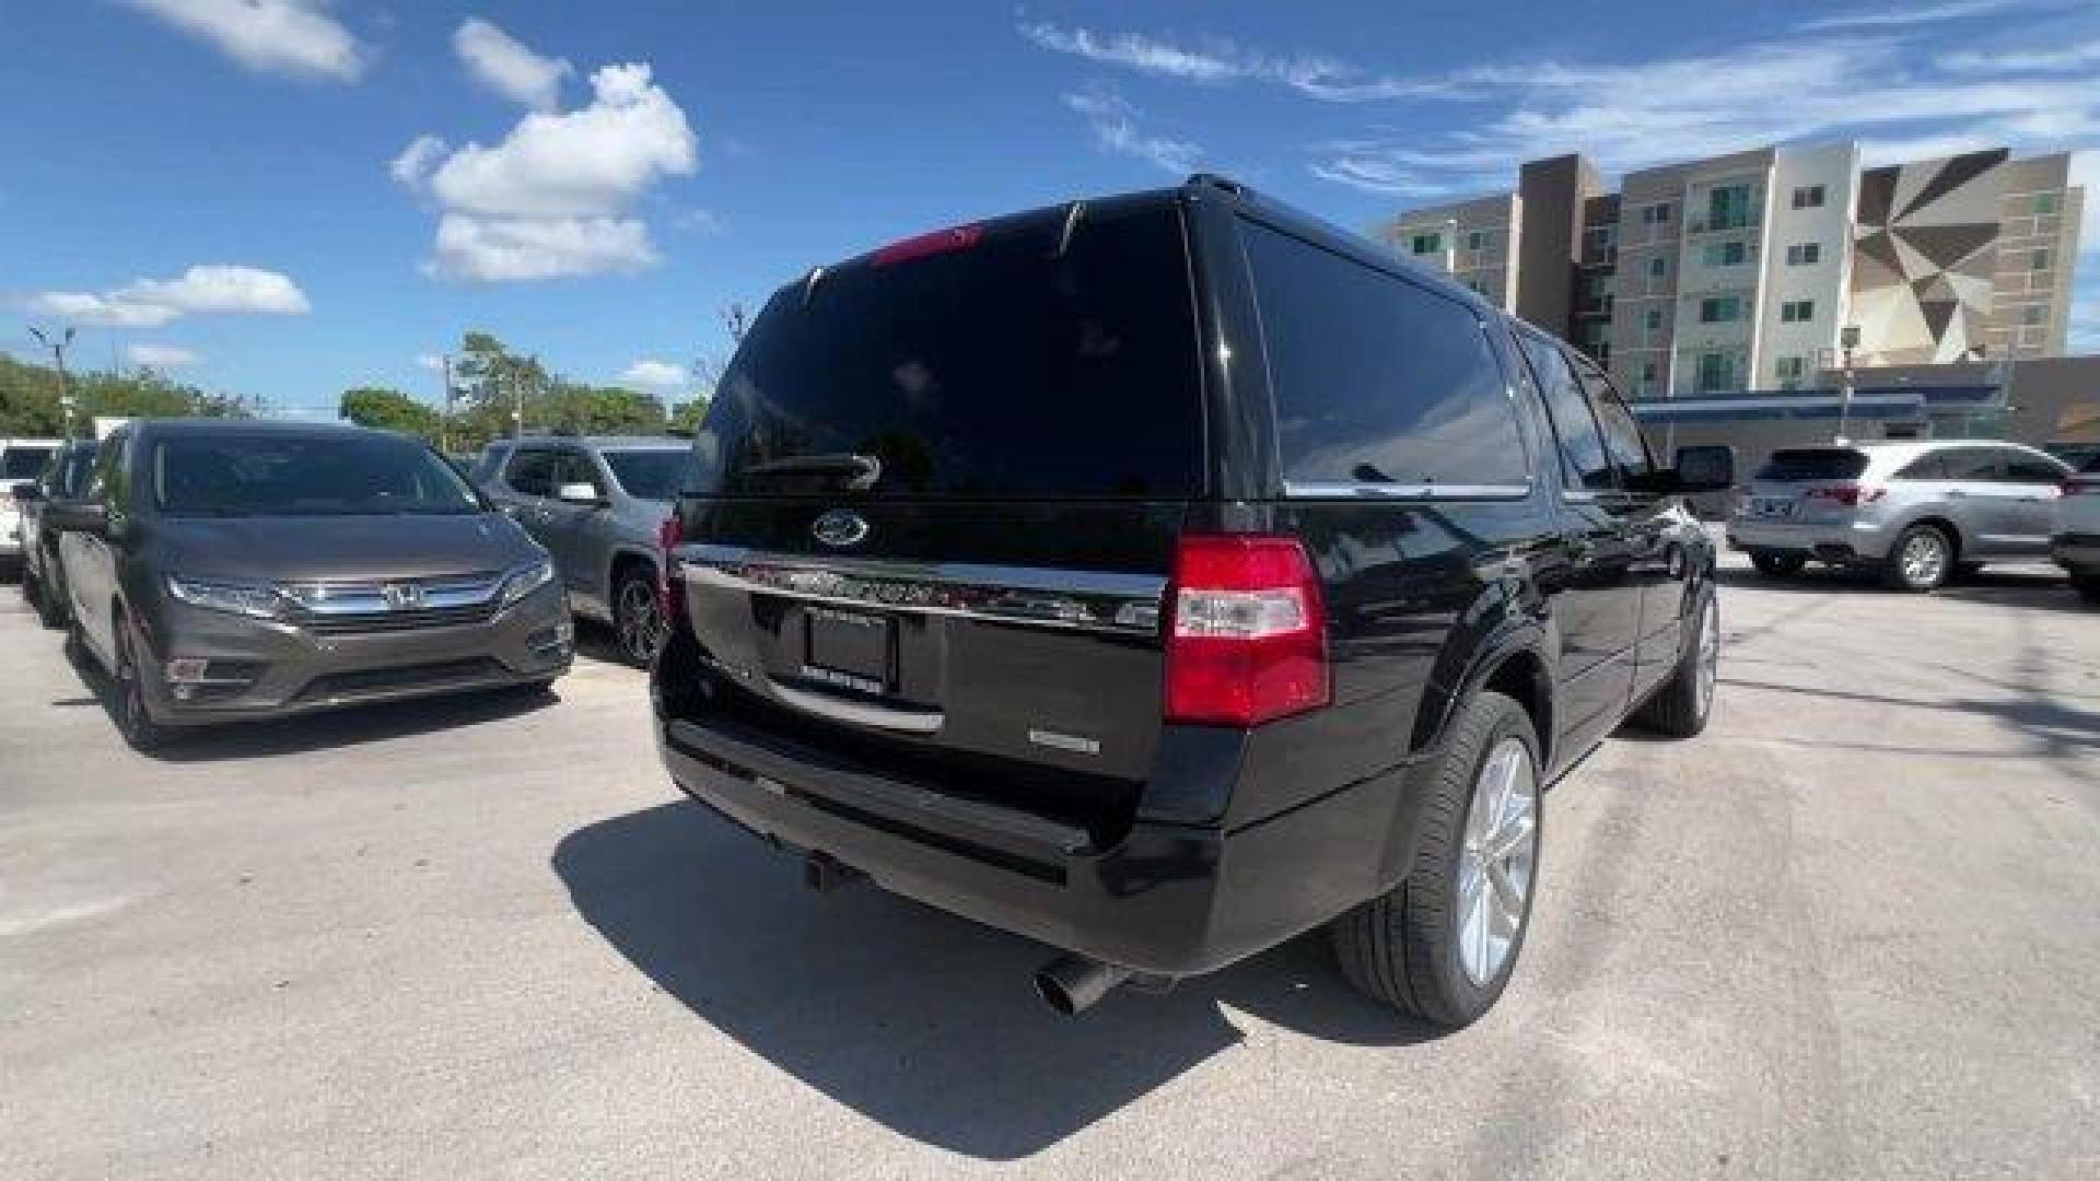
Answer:
[[[1730,559],[1714,729],[1546,807],[1502,1007],[1046,952],[678,803],[643,675],[128,752],[0,590],[0,1177],[2094,1177],[2100,614]]]

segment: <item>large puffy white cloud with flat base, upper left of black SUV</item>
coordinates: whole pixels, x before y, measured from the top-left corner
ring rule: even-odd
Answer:
[[[472,65],[464,48],[462,57]],[[426,271],[521,282],[655,263],[649,227],[630,210],[653,185],[699,168],[693,128],[647,63],[607,65],[590,76],[590,90],[588,105],[533,109],[494,145],[447,151],[424,134],[395,158],[388,172],[441,212]]]

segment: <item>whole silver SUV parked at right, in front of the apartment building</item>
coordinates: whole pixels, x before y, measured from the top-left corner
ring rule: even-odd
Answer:
[[[1991,439],[1781,450],[1737,502],[1728,544],[1772,578],[1825,561],[1932,590],[1987,561],[2048,561],[2068,473]]]

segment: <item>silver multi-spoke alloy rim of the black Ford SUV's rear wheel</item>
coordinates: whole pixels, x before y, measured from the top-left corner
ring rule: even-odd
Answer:
[[[1457,857],[1457,958],[1478,988],[1495,979],[1522,933],[1537,830],[1539,784],[1531,748],[1520,738],[1504,738],[1480,761]]]

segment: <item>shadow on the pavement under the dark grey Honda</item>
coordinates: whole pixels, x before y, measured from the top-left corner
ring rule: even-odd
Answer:
[[[116,685],[99,664],[76,645],[65,645],[65,662],[88,687],[92,698],[59,698],[55,706],[99,704],[109,714],[109,729],[116,731]],[[279,754],[302,754],[334,746],[357,746],[361,742],[384,742],[477,725],[506,717],[527,714],[552,706],[559,698],[552,689],[521,685],[510,689],[485,689],[441,698],[414,698],[405,702],[376,702],[368,706],[344,706],[340,710],[252,719],[227,725],[197,727],[176,733],[166,746],[149,757],[162,763],[220,763],[237,759],[271,759]]]

